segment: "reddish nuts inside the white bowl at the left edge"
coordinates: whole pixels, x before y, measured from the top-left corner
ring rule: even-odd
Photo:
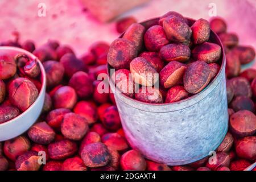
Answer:
[[[42,86],[40,73],[38,60],[24,53],[0,55],[0,125],[35,102]]]

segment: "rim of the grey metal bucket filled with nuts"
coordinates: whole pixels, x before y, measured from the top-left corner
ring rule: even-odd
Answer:
[[[191,26],[196,20],[192,18],[187,18],[188,24]],[[159,18],[152,18],[145,20],[141,22],[140,24],[150,24],[150,22],[158,22]],[[124,34],[125,32],[123,32]],[[123,34],[121,34],[118,38],[122,38]],[[201,100],[203,100],[205,97],[208,96],[210,92],[212,92],[218,84],[220,84],[222,78],[224,77],[225,79],[225,65],[226,65],[226,57],[225,57],[225,51],[224,51],[224,46],[221,43],[220,38],[218,35],[210,29],[210,40],[212,40],[213,43],[218,44],[218,46],[221,47],[221,67],[220,71],[218,71],[217,75],[213,78],[212,81],[207,85],[206,88],[204,88],[200,93],[194,94],[191,97],[185,98],[183,100],[177,101],[177,102],[172,102],[172,103],[162,103],[162,104],[152,104],[152,103],[147,103],[147,102],[142,102],[135,100],[135,98],[131,98],[126,96],[125,94],[121,93],[121,91],[118,88],[115,88],[115,85],[110,77],[110,69],[112,68],[109,63],[107,63],[107,73],[108,73],[108,81],[110,85],[111,92],[114,93],[115,97],[118,97],[123,103],[134,107],[139,110],[143,111],[150,111],[150,112],[155,112],[155,113],[166,113],[169,111],[177,111],[177,110],[182,110],[187,107],[190,107],[192,105],[197,104]],[[117,89],[119,92],[114,92],[114,89]],[[160,110],[159,110],[160,109]],[[158,111],[155,111],[158,110]]]

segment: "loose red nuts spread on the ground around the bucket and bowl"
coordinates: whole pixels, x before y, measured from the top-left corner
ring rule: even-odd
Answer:
[[[223,20],[214,26],[212,22],[212,29],[222,29],[221,24],[225,25]],[[47,74],[47,94],[40,118],[27,133],[0,142],[0,171],[226,171],[243,170],[255,162],[254,69],[228,81],[230,127],[216,149],[216,156],[185,166],[167,166],[145,159],[129,146],[113,94],[97,89],[101,84],[97,76],[106,73],[107,43],[94,43],[81,57],[71,47],[53,40],[38,48],[28,41],[22,48],[40,57]],[[39,163],[44,157],[46,163]],[[211,163],[214,158],[217,163]]]

